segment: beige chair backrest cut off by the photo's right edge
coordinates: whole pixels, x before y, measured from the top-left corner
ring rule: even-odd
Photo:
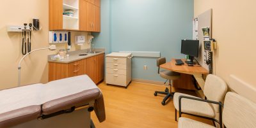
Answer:
[[[256,103],[234,92],[228,92],[222,117],[227,128],[256,127]]]

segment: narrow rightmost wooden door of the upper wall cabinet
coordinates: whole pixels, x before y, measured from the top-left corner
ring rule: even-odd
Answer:
[[[94,22],[93,22],[93,31],[100,32],[100,8],[95,6],[94,8]]]

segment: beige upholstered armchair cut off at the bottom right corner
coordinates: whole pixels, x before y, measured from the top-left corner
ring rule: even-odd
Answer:
[[[256,127],[256,103],[239,96],[234,92],[228,92],[225,97],[223,109],[223,125],[228,128],[252,128]],[[215,128],[189,118],[179,118],[179,128]],[[222,127],[222,124],[221,124]]]

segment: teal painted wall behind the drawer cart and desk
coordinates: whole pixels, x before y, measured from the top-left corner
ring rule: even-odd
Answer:
[[[193,0],[111,0],[108,6],[111,52],[161,52],[167,60],[184,57],[180,43],[192,38]],[[96,37],[99,46],[104,46],[104,36]],[[164,81],[157,74],[156,58],[134,57],[132,78]]]

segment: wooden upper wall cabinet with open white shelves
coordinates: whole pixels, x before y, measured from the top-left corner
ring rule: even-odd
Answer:
[[[100,32],[100,0],[49,0],[49,30]],[[63,15],[74,10],[74,16]]]

